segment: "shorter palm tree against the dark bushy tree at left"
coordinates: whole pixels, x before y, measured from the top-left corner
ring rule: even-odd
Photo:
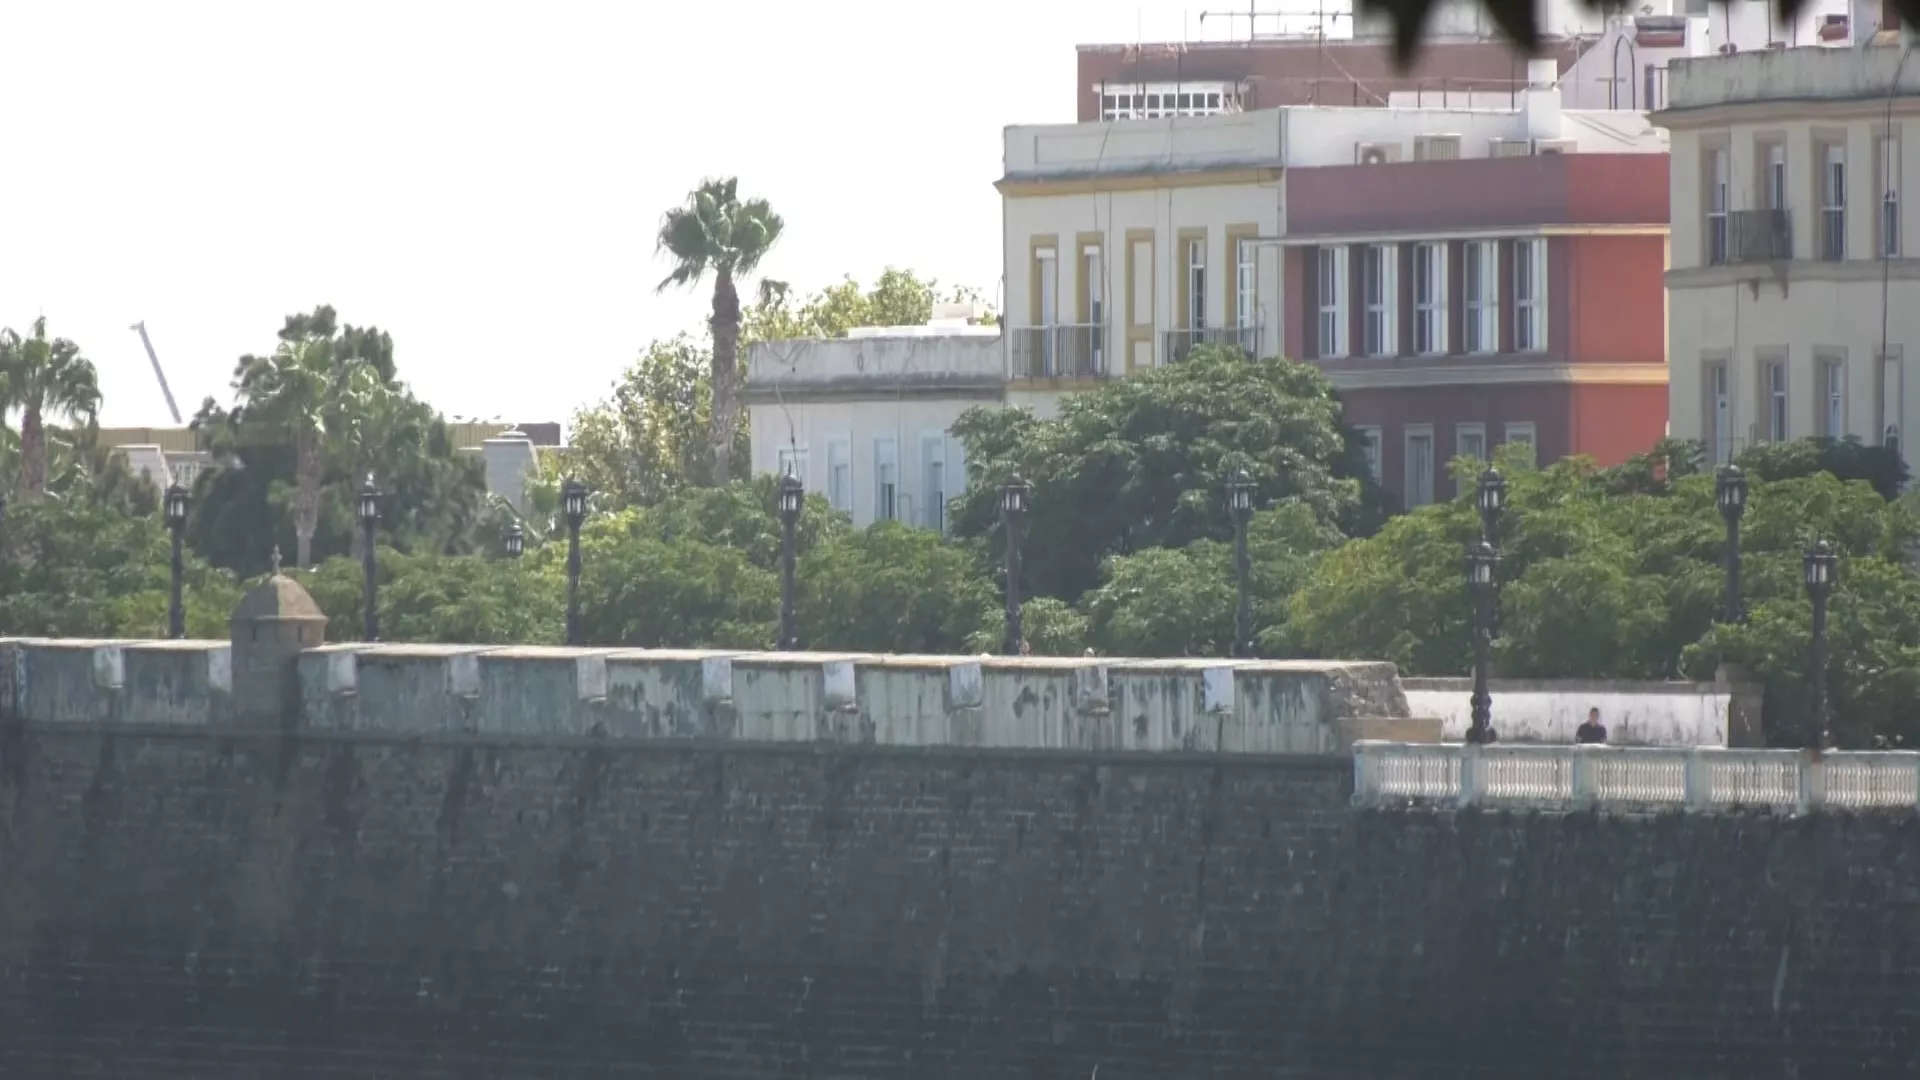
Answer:
[[[384,384],[371,363],[340,356],[336,342],[317,334],[284,334],[273,356],[240,359],[234,388],[246,423],[294,440],[294,561],[313,565],[313,534],[321,525],[321,482],[326,479],[326,436],[365,415],[367,398]]]

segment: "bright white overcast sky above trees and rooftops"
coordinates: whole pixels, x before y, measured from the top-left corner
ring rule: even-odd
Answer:
[[[797,288],[996,296],[1000,129],[1073,119],[1075,44],[1206,8],[0,0],[0,325],[79,340],[109,425],[167,423],[134,321],[192,415],[315,304],[447,415],[566,421],[699,327],[653,234],[703,177],[785,215]]]

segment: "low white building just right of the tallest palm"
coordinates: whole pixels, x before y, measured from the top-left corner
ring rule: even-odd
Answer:
[[[860,329],[845,338],[758,342],[747,354],[755,473],[793,473],[854,527],[947,530],[966,490],[954,421],[1006,402],[993,327]]]

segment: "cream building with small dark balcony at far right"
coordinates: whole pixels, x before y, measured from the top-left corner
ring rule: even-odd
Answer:
[[[1880,35],[1882,38],[1889,35]],[[1668,69],[1670,430],[1720,461],[1920,423],[1920,56],[1786,48]]]

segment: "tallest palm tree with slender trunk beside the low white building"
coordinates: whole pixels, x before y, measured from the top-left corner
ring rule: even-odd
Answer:
[[[739,200],[739,181],[703,181],[687,204],[660,219],[659,252],[674,259],[674,273],[655,292],[699,284],[714,275],[712,482],[733,473],[733,432],[739,430],[739,279],[751,275],[780,242],[780,215],[764,198]]]

